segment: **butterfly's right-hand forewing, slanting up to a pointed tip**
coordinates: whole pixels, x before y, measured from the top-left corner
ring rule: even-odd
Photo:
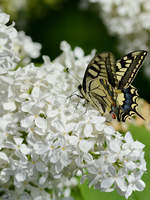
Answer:
[[[132,83],[146,55],[147,51],[134,51],[116,62],[116,87],[118,89],[127,88]]]

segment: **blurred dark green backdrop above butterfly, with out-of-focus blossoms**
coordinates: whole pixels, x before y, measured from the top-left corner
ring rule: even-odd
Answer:
[[[123,2],[123,1],[122,1]],[[139,3],[140,2],[140,3]],[[119,59],[127,52],[150,46],[148,0],[119,3],[115,0],[0,0],[17,30],[42,44],[41,55],[52,60],[60,53],[60,42],[80,46],[85,54],[111,51]],[[147,4],[146,4],[147,3]],[[133,12],[134,10],[134,12]],[[148,20],[149,19],[149,20]],[[42,62],[40,57],[37,62]],[[149,57],[133,85],[150,102]]]

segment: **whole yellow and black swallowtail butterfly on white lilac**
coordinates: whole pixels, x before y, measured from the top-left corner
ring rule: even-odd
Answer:
[[[138,93],[131,83],[140,69],[147,52],[139,50],[115,61],[112,53],[96,55],[85,71],[78,89],[83,98],[100,113],[112,113],[112,118],[125,121],[136,110]]]

